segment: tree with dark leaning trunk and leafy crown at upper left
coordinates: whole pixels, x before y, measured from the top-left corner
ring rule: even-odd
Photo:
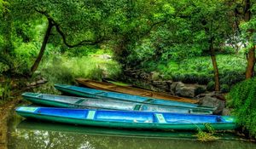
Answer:
[[[20,3],[22,4],[19,6]],[[53,28],[67,48],[92,45],[107,40],[108,26],[105,26],[105,22],[108,20],[108,9],[110,9],[107,4],[107,1],[104,3],[102,1],[26,1],[26,3],[15,1],[16,9],[22,11],[24,18],[37,14],[48,21],[44,40],[31,72],[37,70]]]

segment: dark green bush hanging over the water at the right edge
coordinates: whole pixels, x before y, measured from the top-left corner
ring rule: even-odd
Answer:
[[[256,137],[256,78],[237,83],[228,95],[237,123]]]

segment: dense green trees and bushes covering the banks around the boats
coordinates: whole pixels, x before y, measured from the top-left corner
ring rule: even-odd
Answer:
[[[255,11],[255,0],[0,0],[0,100],[32,78],[47,78],[51,93],[130,68],[229,92],[255,76]],[[253,80],[230,93],[251,135]]]

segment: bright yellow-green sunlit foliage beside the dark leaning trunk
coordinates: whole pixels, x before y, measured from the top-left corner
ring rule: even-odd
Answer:
[[[116,61],[102,59],[99,54],[83,57],[59,55],[44,62],[40,72],[51,83],[73,83],[76,77],[94,80],[114,78],[120,74],[120,66]]]

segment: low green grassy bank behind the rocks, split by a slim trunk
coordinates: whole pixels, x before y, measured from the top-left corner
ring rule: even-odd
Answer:
[[[223,90],[229,91],[230,86],[241,82],[245,78],[247,60],[243,55],[218,54],[217,63],[220,83]],[[157,71],[164,77],[162,79],[172,79],[183,83],[200,83],[212,85],[213,68],[210,56],[193,57],[179,62],[176,61],[149,61],[142,64],[146,72]],[[212,88],[211,86],[209,88]]]

